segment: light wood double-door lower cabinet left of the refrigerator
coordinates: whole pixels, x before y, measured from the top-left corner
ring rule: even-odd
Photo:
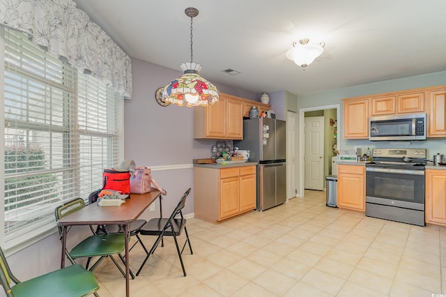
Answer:
[[[222,222],[256,208],[256,166],[194,167],[194,216]]]

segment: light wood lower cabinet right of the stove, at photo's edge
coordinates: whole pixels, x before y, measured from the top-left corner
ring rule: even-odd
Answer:
[[[446,170],[426,169],[426,224],[446,227]]]

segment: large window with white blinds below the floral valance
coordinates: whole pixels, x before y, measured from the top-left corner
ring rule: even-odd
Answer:
[[[54,231],[54,208],[102,187],[122,157],[123,97],[0,27],[4,72],[3,246]],[[3,41],[3,42],[2,42]],[[0,77],[1,77],[0,76]]]

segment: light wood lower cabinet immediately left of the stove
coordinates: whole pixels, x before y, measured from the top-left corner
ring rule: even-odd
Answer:
[[[337,206],[365,213],[365,165],[337,165]]]

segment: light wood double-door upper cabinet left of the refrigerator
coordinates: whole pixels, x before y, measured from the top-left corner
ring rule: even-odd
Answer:
[[[220,101],[194,107],[195,139],[243,139],[243,100],[220,93]]]

